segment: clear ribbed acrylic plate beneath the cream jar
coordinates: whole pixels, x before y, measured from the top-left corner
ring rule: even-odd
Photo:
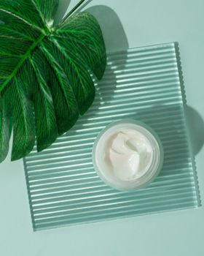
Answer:
[[[34,230],[200,206],[181,88],[174,43],[110,53],[90,110],[50,148],[24,159]],[[108,187],[92,162],[98,133],[122,118],[149,124],[165,151],[160,176],[134,192]]]

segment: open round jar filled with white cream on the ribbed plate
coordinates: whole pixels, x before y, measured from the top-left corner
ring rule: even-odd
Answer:
[[[95,171],[102,181],[119,190],[146,187],[160,173],[163,158],[160,138],[141,121],[113,122],[93,145]]]

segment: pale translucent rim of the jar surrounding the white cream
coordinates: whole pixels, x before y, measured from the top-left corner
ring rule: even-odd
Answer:
[[[152,146],[152,162],[149,166],[148,170],[138,178],[134,178],[130,181],[117,181],[114,178],[107,178],[106,172],[101,170],[101,165],[98,157],[98,151],[100,150],[101,139],[107,135],[107,133],[115,129],[135,129],[137,132],[141,132],[148,140]],[[142,187],[146,187],[149,183],[151,183],[154,178],[160,173],[163,163],[163,148],[160,138],[157,133],[149,127],[147,124],[136,121],[132,119],[123,119],[122,121],[114,121],[111,124],[107,125],[104,128],[97,138],[95,139],[95,143],[93,145],[93,165],[95,167],[95,171],[98,173],[98,176],[110,187],[114,187],[115,189],[120,190],[131,190],[131,189],[139,189]],[[103,169],[103,168],[102,168]]]

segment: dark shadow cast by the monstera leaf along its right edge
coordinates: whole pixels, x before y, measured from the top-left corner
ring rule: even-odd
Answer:
[[[90,123],[91,120],[98,116],[98,111],[102,105],[106,104],[106,91],[109,91],[109,95],[114,95],[114,90],[117,86],[117,70],[123,70],[127,61],[127,48],[128,42],[123,29],[122,23],[117,16],[117,13],[111,8],[97,5],[95,7],[90,7],[85,10],[90,12],[98,20],[103,33],[103,38],[106,44],[107,51],[107,66],[103,78],[100,82],[95,82],[95,101],[90,109],[85,113],[84,116],[79,118],[76,125],[71,129],[71,135],[74,131],[80,130]],[[114,31],[114,33],[113,33]],[[122,56],[120,56],[121,61],[118,63],[118,52],[121,51]],[[114,52],[117,52],[115,54]],[[66,133],[69,135],[69,131]]]

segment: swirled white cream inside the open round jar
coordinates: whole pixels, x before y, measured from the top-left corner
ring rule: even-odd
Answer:
[[[120,129],[114,133],[103,151],[110,169],[122,181],[143,176],[152,162],[149,140],[133,129]]]

